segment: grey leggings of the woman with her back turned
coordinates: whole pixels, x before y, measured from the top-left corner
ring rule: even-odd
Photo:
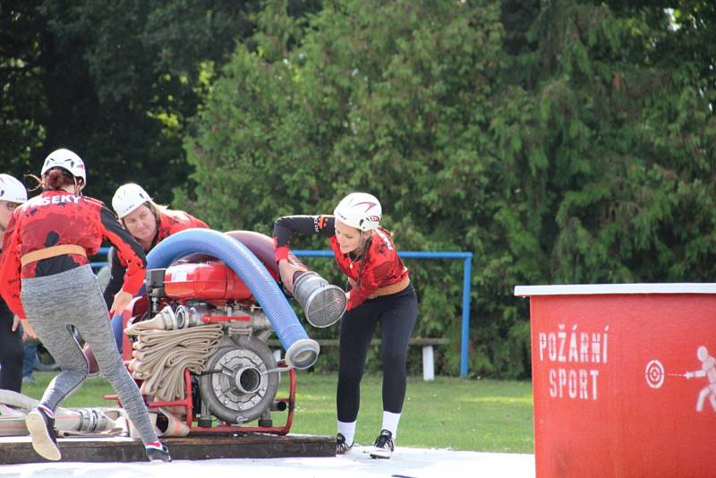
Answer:
[[[117,352],[107,305],[90,265],[52,276],[23,278],[21,300],[30,325],[62,369],[40,403],[55,410],[87,378],[89,365],[72,335],[73,326],[92,346],[99,371],[115,388],[141,440],[145,445],[157,441],[140,390]]]

